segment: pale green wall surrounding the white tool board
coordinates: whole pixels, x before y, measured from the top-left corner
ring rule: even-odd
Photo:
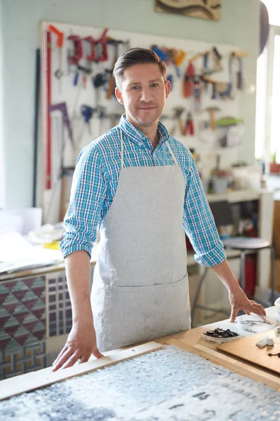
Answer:
[[[255,74],[258,57],[258,1],[223,0],[222,20],[211,22],[154,11],[153,0],[0,0],[3,13],[3,80],[7,208],[31,206],[33,182],[33,124],[35,49],[38,22],[57,22],[125,29],[235,44],[250,53],[244,60],[246,91],[241,115],[246,121],[241,159],[254,160]],[[129,17],[129,18],[128,18]]]

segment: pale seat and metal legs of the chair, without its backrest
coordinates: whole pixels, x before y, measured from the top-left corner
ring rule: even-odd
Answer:
[[[262,302],[260,300],[258,301],[260,304],[265,305],[268,307],[269,305],[274,305],[274,248],[270,241],[267,241],[265,239],[260,238],[252,238],[252,237],[232,237],[229,239],[225,239],[223,241],[223,245],[225,247],[225,250],[232,249],[232,250],[239,250],[240,251],[240,286],[242,290],[245,291],[245,256],[247,251],[259,251],[264,250],[265,248],[268,248],[270,250],[270,258],[271,258],[271,290],[272,293],[269,298],[269,303]],[[225,310],[221,309],[213,309],[211,307],[206,307],[203,305],[197,305],[198,298],[200,297],[200,290],[202,288],[202,285],[204,283],[204,280],[207,276],[209,267],[206,267],[204,269],[204,274],[202,274],[202,277],[200,278],[200,282],[197,286],[197,290],[195,293],[195,298],[193,300],[193,306],[191,310],[191,317],[192,320],[195,317],[195,310],[197,308],[205,309],[205,310],[212,310],[216,312],[226,313]]]

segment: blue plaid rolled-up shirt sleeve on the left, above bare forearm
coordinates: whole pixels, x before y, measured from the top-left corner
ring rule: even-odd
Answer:
[[[102,157],[90,144],[80,152],[73,174],[69,209],[64,218],[66,232],[59,244],[64,258],[77,250],[85,250],[91,257],[106,189]]]

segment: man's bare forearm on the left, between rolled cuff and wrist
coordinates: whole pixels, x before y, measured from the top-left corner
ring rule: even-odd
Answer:
[[[90,305],[90,256],[78,250],[65,258],[73,323],[93,323]]]

